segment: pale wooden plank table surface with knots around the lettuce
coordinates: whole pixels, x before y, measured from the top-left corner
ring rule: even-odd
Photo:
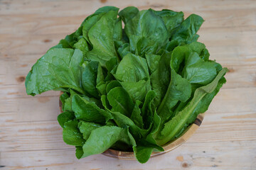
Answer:
[[[146,164],[102,154],[75,158],[57,123],[58,93],[27,96],[24,80],[48,48],[100,6],[197,13],[210,59],[228,67],[227,84],[201,128],[174,151]],[[1,0],[0,170],[256,169],[256,1]]]

